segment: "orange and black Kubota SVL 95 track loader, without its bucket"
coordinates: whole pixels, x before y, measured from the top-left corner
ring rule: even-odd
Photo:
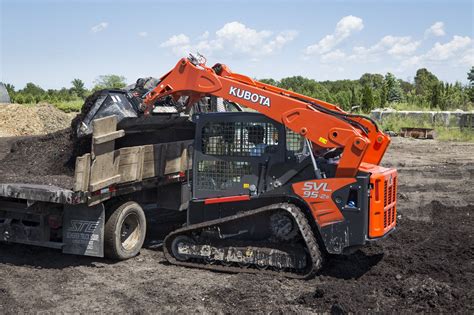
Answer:
[[[345,254],[395,229],[397,171],[370,118],[181,59],[144,96],[145,114],[172,97],[215,96],[255,112],[194,113],[187,224],[164,242],[174,264],[313,276],[324,253]]]

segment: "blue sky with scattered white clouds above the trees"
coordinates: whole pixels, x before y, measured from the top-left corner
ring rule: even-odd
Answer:
[[[0,81],[91,87],[161,76],[188,52],[256,78],[357,79],[427,67],[466,82],[472,1],[0,0]]]

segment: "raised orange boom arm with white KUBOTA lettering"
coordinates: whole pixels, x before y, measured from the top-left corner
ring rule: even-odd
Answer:
[[[145,96],[145,114],[165,96],[188,96],[187,106],[214,95],[252,108],[322,148],[343,148],[336,177],[355,177],[362,162],[379,164],[390,138],[370,119],[344,112],[330,103],[264,84],[183,58]]]

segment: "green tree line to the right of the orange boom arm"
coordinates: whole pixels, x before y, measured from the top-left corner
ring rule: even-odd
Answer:
[[[302,76],[260,80],[264,83],[337,104],[344,110],[370,112],[377,107],[405,103],[413,108],[470,109],[474,104],[474,67],[468,85],[439,80],[425,68],[418,69],[414,82],[397,79],[392,73],[365,73],[358,80],[315,81]]]

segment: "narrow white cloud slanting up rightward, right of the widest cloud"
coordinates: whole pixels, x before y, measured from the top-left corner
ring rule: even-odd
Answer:
[[[333,34],[324,36],[318,43],[306,47],[307,55],[324,54],[336,47],[354,32],[361,31],[364,23],[361,18],[356,16],[345,16],[336,25]]]

